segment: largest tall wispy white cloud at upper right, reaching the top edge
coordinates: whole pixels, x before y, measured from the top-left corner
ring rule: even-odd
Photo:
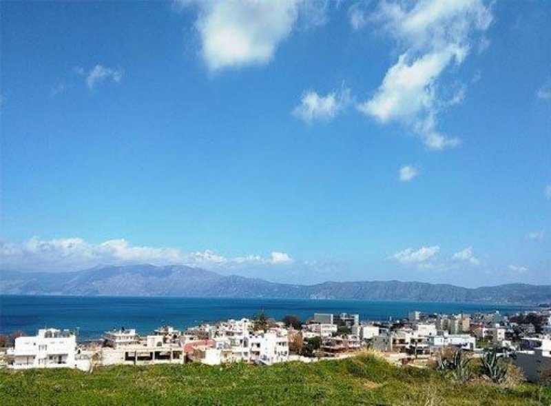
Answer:
[[[450,67],[461,65],[472,48],[475,33],[488,29],[490,9],[482,0],[383,1],[369,20],[381,26],[404,50],[373,97],[359,103],[358,110],[382,124],[395,121],[406,125],[432,150],[459,145],[457,137],[437,130],[437,115],[461,102],[465,88],[445,100],[438,92],[441,76]]]

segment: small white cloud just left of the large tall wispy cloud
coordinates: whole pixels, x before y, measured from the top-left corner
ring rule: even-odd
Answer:
[[[304,92],[293,114],[306,123],[315,120],[329,121],[342,112],[351,102],[350,90],[342,88],[326,96],[309,90]]]

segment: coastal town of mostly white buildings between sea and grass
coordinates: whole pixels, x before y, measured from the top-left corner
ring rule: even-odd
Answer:
[[[396,365],[426,367],[448,349],[472,357],[488,351],[510,358],[530,382],[551,376],[551,308],[517,314],[424,314],[384,322],[359,314],[315,313],[306,321],[263,312],[252,318],[200,324],[179,330],[163,325],[141,336],[121,327],[101,339],[77,342],[67,329],[39,329],[36,336],[3,336],[2,366],[10,369],[76,368],[92,372],[107,365],[245,362],[271,365],[340,359],[370,351]]]

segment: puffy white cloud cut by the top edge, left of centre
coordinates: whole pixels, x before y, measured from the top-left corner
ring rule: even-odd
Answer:
[[[299,16],[323,23],[326,3],[301,0],[179,0],[199,9],[196,29],[211,72],[269,63]],[[319,5],[319,6],[318,6]]]

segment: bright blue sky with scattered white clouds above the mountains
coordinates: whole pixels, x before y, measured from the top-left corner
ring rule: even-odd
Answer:
[[[2,270],[551,284],[551,2],[2,1]]]

